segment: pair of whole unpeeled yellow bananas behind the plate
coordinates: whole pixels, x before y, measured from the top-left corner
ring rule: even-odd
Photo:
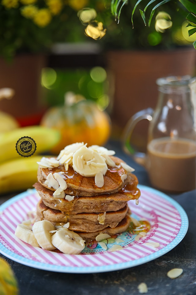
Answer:
[[[36,152],[23,157],[16,151],[17,141],[31,137],[36,142]],[[37,168],[42,158],[60,140],[57,130],[41,126],[16,128],[0,133],[0,194],[22,191],[32,188],[37,181]]]

